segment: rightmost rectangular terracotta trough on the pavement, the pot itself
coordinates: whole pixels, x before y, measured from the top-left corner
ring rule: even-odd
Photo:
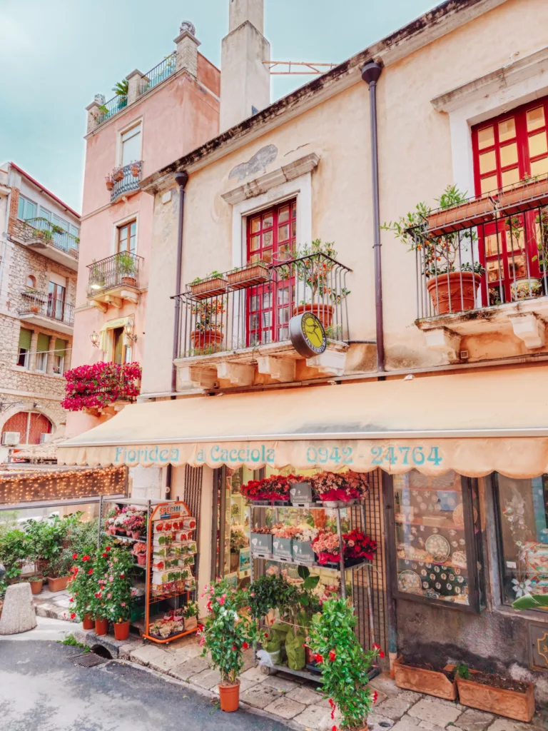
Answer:
[[[496,713],[509,719],[528,723],[535,714],[535,686],[525,683],[525,692],[518,692],[505,688],[494,688],[473,680],[476,670],[470,670],[468,680],[457,678],[459,700],[470,708],[479,708],[480,711]]]

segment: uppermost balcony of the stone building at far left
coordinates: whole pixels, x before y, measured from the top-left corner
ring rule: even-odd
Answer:
[[[74,271],[78,270],[80,239],[47,219],[15,221],[12,239]]]

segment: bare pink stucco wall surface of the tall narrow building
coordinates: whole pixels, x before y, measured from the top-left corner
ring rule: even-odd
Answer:
[[[154,91],[126,107],[112,119],[88,135],[85,157],[83,221],[80,232],[80,260],[75,314],[72,367],[96,363],[104,353],[91,344],[90,334],[99,332],[104,322],[134,315],[133,360],[142,363],[146,346],[145,308],[148,268],[151,256],[151,234],[154,199],[137,192],[110,204],[105,176],[119,163],[120,132],[133,121],[142,121],[142,178],[183,156],[218,135],[218,91],[220,72],[213,64],[198,56],[198,80],[178,74],[164,81]],[[123,303],[121,308],[109,306],[106,313],[88,305],[88,265],[115,254],[115,227],[125,219],[137,218],[136,253],[141,262],[140,301]],[[169,272],[166,287],[175,294],[175,273]],[[171,333],[166,337],[171,338]],[[104,417],[102,417],[104,418]],[[97,425],[99,420],[88,414],[69,414],[67,434],[74,435]]]

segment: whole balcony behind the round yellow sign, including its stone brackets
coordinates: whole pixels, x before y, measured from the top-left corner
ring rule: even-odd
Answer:
[[[249,386],[265,376],[292,382],[303,368],[308,377],[341,376],[349,349],[346,303],[351,270],[325,254],[274,265],[251,263],[243,270],[187,285],[180,306],[178,390],[211,388],[227,380]],[[311,311],[324,324],[327,349],[302,358],[289,339],[289,321]]]

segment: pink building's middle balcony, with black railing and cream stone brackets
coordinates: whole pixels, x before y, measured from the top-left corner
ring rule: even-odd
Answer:
[[[143,258],[129,251],[88,264],[88,301],[106,312],[109,305],[121,307],[124,302],[137,304]]]

